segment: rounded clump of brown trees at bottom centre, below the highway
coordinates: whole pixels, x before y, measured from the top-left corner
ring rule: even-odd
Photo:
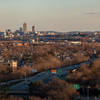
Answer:
[[[47,95],[50,100],[70,100],[73,94],[76,93],[72,85],[58,79],[54,79],[48,85],[44,85],[41,88],[41,92]]]

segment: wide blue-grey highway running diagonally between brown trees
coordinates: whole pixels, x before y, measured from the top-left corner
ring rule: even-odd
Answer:
[[[12,87],[10,87],[10,91],[9,93],[28,93],[28,89],[29,89],[29,83],[30,82],[36,82],[36,81],[42,81],[46,84],[48,84],[49,81],[51,81],[54,78],[64,78],[66,77],[73,69],[78,69],[81,64],[89,64],[90,61],[92,61],[93,59],[90,59],[89,61],[80,63],[80,64],[76,64],[76,65],[72,65],[72,66],[67,66],[67,67],[62,67],[62,68],[56,68],[56,73],[52,73],[51,70],[48,71],[44,71],[41,72],[39,74],[36,74],[35,76],[26,78],[23,82],[20,82]],[[61,71],[61,73],[58,73],[58,71]]]

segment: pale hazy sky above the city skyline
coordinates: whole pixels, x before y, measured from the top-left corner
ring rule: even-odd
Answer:
[[[0,0],[0,29],[100,31],[100,0]]]

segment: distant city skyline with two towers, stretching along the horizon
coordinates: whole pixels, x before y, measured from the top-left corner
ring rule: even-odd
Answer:
[[[77,44],[79,41],[97,41],[100,42],[100,32],[55,32],[55,31],[36,31],[35,26],[32,26],[31,31],[28,31],[27,23],[23,24],[18,30],[12,32],[11,29],[6,29],[5,32],[0,30],[0,40],[21,40],[27,42],[67,42],[74,41],[72,44]],[[78,41],[75,43],[75,41]]]

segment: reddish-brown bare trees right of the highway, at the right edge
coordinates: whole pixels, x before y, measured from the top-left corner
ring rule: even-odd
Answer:
[[[90,65],[82,65],[78,71],[70,74],[67,79],[81,80],[80,82],[90,81],[89,84],[100,84],[100,59],[95,60]],[[91,82],[92,81],[92,82]]]

